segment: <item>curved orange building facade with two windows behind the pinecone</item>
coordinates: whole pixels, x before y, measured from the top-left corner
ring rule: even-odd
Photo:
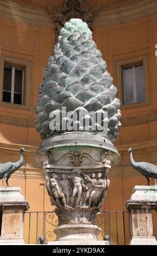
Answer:
[[[34,107],[55,44],[55,23],[46,5],[62,9],[61,2],[0,1],[0,161],[16,162],[19,149],[25,149],[24,164],[11,176],[9,185],[22,188],[30,212],[52,210],[42,166],[35,161],[42,141],[35,131]],[[115,142],[121,161],[108,175],[110,187],[103,210],[123,211],[133,187],[147,184],[130,166],[128,148],[133,149],[135,161],[157,164],[157,3],[86,1],[86,7],[98,4],[101,8],[93,17],[93,38],[122,102],[122,127]],[[7,81],[11,81],[10,88]],[[155,214],[154,225],[157,227]]]

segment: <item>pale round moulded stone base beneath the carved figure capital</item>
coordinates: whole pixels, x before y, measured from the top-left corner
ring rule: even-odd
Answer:
[[[92,224],[64,224],[54,230],[57,240],[48,245],[108,245],[108,241],[99,240],[100,231]]]

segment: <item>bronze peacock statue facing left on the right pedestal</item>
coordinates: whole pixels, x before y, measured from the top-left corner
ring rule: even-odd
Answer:
[[[155,166],[152,163],[146,163],[146,162],[135,162],[133,159],[133,153],[132,149],[128,149],[130,153],[130,164],[132,164],[133,168],[137,170],[139,173],[141,173],[143,176],[146,177],[148,181],[148,186],[149,186],[149,178],[153,178],[155,185],[156,185],[156,178],[157,178],[157,166]]]

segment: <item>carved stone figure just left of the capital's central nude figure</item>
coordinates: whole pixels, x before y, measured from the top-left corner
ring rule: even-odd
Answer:
[[[71,187],[70,187],[69,181],[66,177],[66,174],[62,173],[61,179],[62,179],[60,181],[61,190],[62,190],[64,196],[66,196],[67,204],[69,204],[70,194],[72,193]]]

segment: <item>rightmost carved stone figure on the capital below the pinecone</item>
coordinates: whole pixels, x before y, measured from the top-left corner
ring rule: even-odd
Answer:
[[[94,189],[93,191],[91,191],[89,196],[89,205],[88,205],[89,207],[91,206],[91,202],[94,201],[94,205],[96,205],[98,200],[100,199],[102,190],[104,188],[104,180],[101,179],[101,177],[102,177],[102,173],[98,173],[96,178],[96,184],[94,184]]]

